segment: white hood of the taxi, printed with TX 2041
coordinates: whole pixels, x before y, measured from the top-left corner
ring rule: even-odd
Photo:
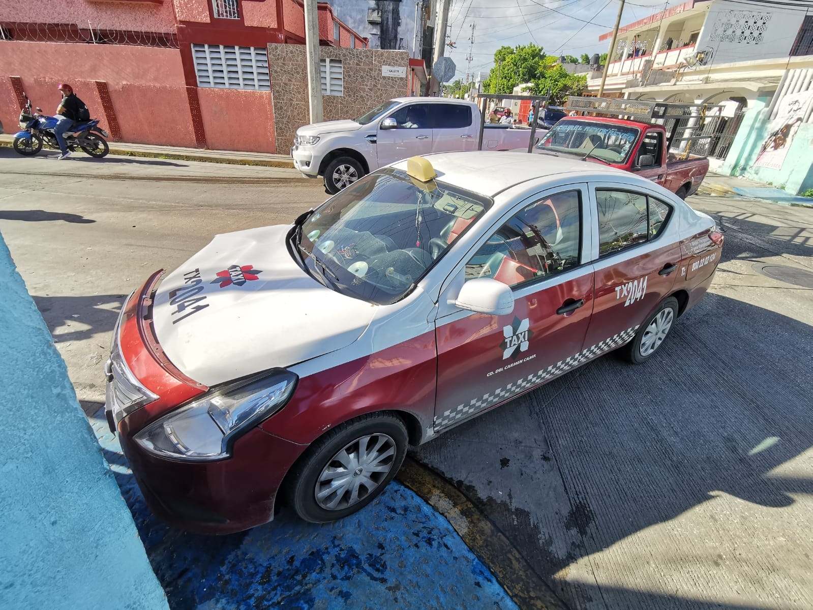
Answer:
[[[285,244],[289,229],[218,235],[163,280],[154,329],[181,372],[212,386],[336,351],[361,336],[376,306],[302,271]]]

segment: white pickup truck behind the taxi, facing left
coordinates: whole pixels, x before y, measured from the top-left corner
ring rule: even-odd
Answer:
[[[355,120],[305,125],[293,138],[293,166],[307,177],[324,176],[338,193],[360,177],[415,155],[477,150],[480,109],[448,98],[395,98]],[[527,148],[531,129],[486,124],[482,150]]]

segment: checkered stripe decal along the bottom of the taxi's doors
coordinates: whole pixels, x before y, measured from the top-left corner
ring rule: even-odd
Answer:
[[[547,381],[553,377],[559,377],[559,375],[562,373],[566,373],[570,369],[576,368],[580,364],[584,364],[589,359],[593,359],[595,356],[602,354],[605,351],[610,351],[615,347],[624,345],[624,343],[629,342],[633,337],[635,337],[637,329],[637,326],[632,329],[626,329],[616,335],[613,335],[609,339],[605,339],[602,342],[596,343],[594,346],[588,347],[586,350],[580,351],[578,354],[560,360],[548,368],[543,368],[537,373],[528,375],[528,377],[524,377],[519,381],[511,381],[511,383],[509,383],[507,386],[498,388],[493,392],[489,392],[480,399],[473,399],[470,403],[461,404],[459,407],[455,407],[454,409],[450,409],[439,416],[435,416],[435,431],[437,432],[438,429],[446,428],[446,426],[454,424],[454,422],[465,419],[468,416],[472,416],[477,412],[483,411],[494,404],[502,403],[503,400],[510,399],[511,396],[520,394],[521,392],[524,392],[524,390],[528,390],[528,388],[532,388],[533,386],[538,386],[542,383],[542,381]]]

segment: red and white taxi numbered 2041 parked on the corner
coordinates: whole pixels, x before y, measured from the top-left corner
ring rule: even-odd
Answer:
[[[649,359],[723,236],[628,172],[413,157],[293,226],[218,235],[124,304],[107,414],[185,529],[363,508],[417,445],[611,350]]]

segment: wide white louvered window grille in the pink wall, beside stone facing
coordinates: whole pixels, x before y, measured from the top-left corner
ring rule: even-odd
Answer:
[[[263,47],[193,44],[192,54],[198,87],[271,90]]]

